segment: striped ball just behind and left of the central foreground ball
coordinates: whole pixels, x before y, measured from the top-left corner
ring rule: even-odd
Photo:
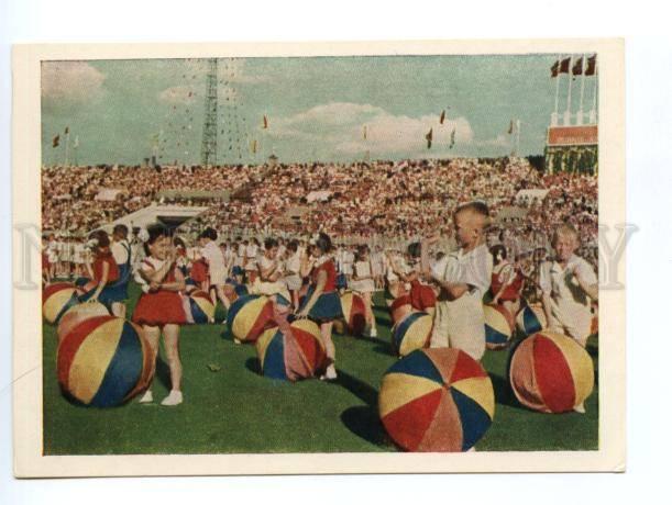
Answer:
[[[275,326],[273,302],[260,294],[240,296],[229,307],[227,325],[239,340],[256,341],[265,329]]]

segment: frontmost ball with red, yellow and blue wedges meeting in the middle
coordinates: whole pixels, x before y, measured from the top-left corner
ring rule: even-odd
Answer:
[[[495,393],[483,367],[459,349],[421,349],[383,377],[378,411],[392,439],[407,451],[460,452],[489,428]]]

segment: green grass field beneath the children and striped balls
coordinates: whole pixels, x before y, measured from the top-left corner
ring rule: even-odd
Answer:
[[[129,307],[140,294],[131,289]],[[129,311],[130,313],[130,311]],[[221,319],[222,313],[218,312]],[[234,345],[224,325],[185,326],[180,334],[185,402],[163,407],[167,366],[159,360],[155,403],[118,408],[70,403],[56,380],[56,328],[44,324],[44,453],[260,453],[396,451],[378,420],[377,391],[396,361],[389,316],[377,299],[377,339],[334,337],[339,379],[289,383],[257,371],[256,350]],[[588,351],[597,369],[594,337]],[[597,449],[597,384],[586,414],[540,414],[518,404],[508,385],[508,350],[487,351],[483,364],[495,388],[495,419],[478,451]],[[210,364],[220,367],[213,372]]]

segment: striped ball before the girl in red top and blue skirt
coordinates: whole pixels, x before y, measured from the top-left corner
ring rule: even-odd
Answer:
[[[287,381],[315,377],[327,360],[320,328],[310,319],[293,322],[285,333],[266,329],[256,340],[256,352],[264,377]]]

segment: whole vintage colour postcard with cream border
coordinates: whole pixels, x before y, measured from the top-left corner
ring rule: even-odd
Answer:
[[[15,475],[624,471],[618,40],[23,45]]]

